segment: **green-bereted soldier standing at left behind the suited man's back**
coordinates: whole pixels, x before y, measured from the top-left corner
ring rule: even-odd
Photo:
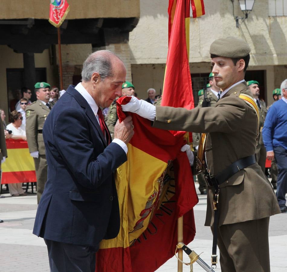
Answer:
[[[49,102],[50,84],[37,82],[35,84],[35,94],[37,101],[26,108],[26,137],[29,152],[34,158],[37,177],[37,202],[39,204],[47,181],[47,160],[42,129],[54,104],[53,102]]]

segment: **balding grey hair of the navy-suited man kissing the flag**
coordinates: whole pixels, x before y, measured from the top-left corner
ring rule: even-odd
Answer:
[[[90,81],[93,73],[99,73],[102,80],[112,76],[111,54],[114,55],[109,50],[99,50],[90,54],[83,63],[82,81]]]

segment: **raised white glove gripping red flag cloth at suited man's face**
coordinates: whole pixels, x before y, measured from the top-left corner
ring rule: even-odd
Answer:
[[[147,101],[137,99],[135,96],[132,96],[126,105],[121,105],[121,108],[124,112],[134,112],[150,121],[156,117],[156,107]]]

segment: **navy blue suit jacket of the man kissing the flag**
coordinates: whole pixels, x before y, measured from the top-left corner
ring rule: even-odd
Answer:
[[[45,121],[48,164],[33,233],[69,244],[96,246],[118,235],[120,218],[114,171],[127,160],[107,146],[83,96],[69,86]]]

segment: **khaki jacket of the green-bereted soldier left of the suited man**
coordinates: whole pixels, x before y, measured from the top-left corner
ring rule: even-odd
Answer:
[[[49,103],[53,107],[53,102]],[[50,109],[40,100],[33,102],[26,108],[26,138],[30,153],[39,151],[40,155],[45,155],[43,134],[38,133],[38,130],[43,129],[49,112]]]

